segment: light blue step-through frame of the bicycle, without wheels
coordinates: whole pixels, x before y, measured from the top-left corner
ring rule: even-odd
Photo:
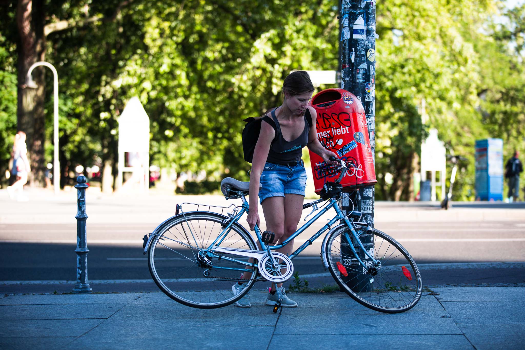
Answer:
[[[228,225],[219,233],[219,235],[213,241],[213,243],[211,245],[209,245],[207,247],[207,249],[206,249],[208,251],[208,254],[212,253],[212,257],[219,258],[219,256],[216,253],[214,253],[213,250],[211,250],[211,249],[214,246],[220,246],[220,243],[222,243],[226,239],[226,236],[228,235],[228,233],[229,233],[233,223],[237,222],[237,220],[239,220],[240,217],[243,216],[243,214],[245,212],[249,211],[249,205],[248,205],[248,202],[246,201],[245,196],[241,195],[241,198],[243,200],[243,205],[241,206],[241,209],[239,210],[239,212],[233,218],[230,218],[228,220]],[[358,236],[357,232],[354,229],[353,223],[351,223],[350,220],[343,215],[343,213],[341,211],[341,208],[339,208],[339,205],[338,205],[337,200],[335,198],[330,198],[330,203],[327,206],[323,207],[319,211],[319,213],[314,215],[310,220],[308,220],[308,222],[306,224],[301,226],[297,231],[295,231],[290,237],[288,237],[285,241],[283,241],[279,245],[276,245],[276,246],[265,245],[265,243],[262,241],[262,235],[261,235],[261,231],[260,231],[259,227],[255,226],[255,234],[257,235],[257,240],[259,241],[259,244],[261,246],[261,250],[266,250],[266,251],[268,251],[269,254],[271,254],[271,250],[280,249],[280,248],[286,246],[292,239],[294,239],[297,236],[299,236],[304,230],[306,230],[311,224],[313,224],[313,222],[315,222],[321,215],[326,213],[332,207],[335,209],[335,213],[337,213],[337,215],[334,216],[328,222],[328,224],[324,225],[319,231],[317,231],[316,234],[314,234],[306,242],[304,242],[299,248],[297,248],[296,251],[291,253],[289,255],[289,258],[293,259],[296,256],[298,256],[299,253],[301,251],[303,251],[306,247],[311,245],[314,240],[316,240],[319,236],[321,236],[326,230],[330,229],[331,226],[335,224],[335,222],[337,222],[337,221],[344,221],[345,224],[348,226],[348,228],[350,228],[350,231],[352,232],[352,235],[354,237],[355,242],[358,243],[359,247],[362,249],[362,251],[364,251],[366,256],[369,257],[374,264],[379,263],[379,261],[374,259],[370,255],[370,253],[363,247],[363,243],[361,243],[361,240],[359,239],[359,236]],[[349,246],[352,249],[353,253],[355,254],[355,257],[359,260],[360,264],[363,267],[365,267],[365,263],[359,258],[359,254],[355,251],[354,245],[352,244],[352,240],[350,239],[350,236],[348,235],[348,232],[344,232],[344,237],[346,238],[346,241],[349,243]],[[237,260],[237,259],[233,259],[233,258],[229,258],[229,257],[225,257],[225,256],[221,256],[220,258],[221,259],[225,259],[227,261],[232,261],[232,262],[236,262],[236,263],[242,264],[243,266],[245,266],[247,264],[246,261],[241,261],[241,260]],[[253,266],[257,267],[257,264],[254,262]],[[245,269],[245,268],[227,268],[227,267],[213,267],[213,269],[237,270],[237,271],[246,271],[246,272],[253,271],[251,269]]]

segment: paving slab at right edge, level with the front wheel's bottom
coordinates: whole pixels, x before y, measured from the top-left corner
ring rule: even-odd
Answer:
[[[523,322],[525,301],[443,301],[450,317],[458,324],[506,324]]]

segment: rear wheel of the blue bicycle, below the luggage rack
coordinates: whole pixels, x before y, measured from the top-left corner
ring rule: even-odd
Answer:
[[[239,264],[228,262],[226,259],[212,259],[214,266],[211,269],[199,265],[197,252],[217,238],[218,232],[222,230],[221,224],[226,218],[224,215],[207,211],[193,211],[166,220],[152,232],[155,237],[148,248],[151,277],[159,289],[171,299],[198,309],[215,309],[238,301],[253,287],[257,275],[256,267],[250,280],[245,282],[248,283],[246,288],[234,295],[231,288],[237,282],[227,279],[238,279],[241,272],[220,270],[216,267],[239,267]],[[231,226],[221,247],[257,249],[248,231],[236,222]],[[232,257],[232,254],[227,256]],[[244,259],[235,256],[234,258]],[[211,271],[210,277],[205,277],[206,269]],[[174,276],[175,273],[178,273],[177,277]]]

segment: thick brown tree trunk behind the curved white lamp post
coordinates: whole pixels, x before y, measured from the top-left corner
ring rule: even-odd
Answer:
[[[29,67],[45,57],[44,2],[19,0],[17,5],[18,45],[18,130],[27,135],[28,159],[31,165],[31,186],[45,186],[45,79],[44,68],[33,72],[38,88],[24,88]]]

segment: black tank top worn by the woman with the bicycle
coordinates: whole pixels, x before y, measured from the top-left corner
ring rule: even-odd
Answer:
[[[307,118],[308,113],[308,118]],[[270,144],[270,151],[268,152],[267,162],[274,164],[286,164],[290,162],[300,161],[302,155],[302,149],[308,143],[308,134],[310,132],[310,122],[312,120],[310,116],[310,111],[308,108],[304,113],[304,130],[302,134],[293,141],[286,141],[282,137],[281,127],[279,121],[275,116],[275,109],[271,111],[271,117],[274,119],[274,123],[269,123],[274,127],[275,137]],[[263,119],[264,120],[264,119]]]

